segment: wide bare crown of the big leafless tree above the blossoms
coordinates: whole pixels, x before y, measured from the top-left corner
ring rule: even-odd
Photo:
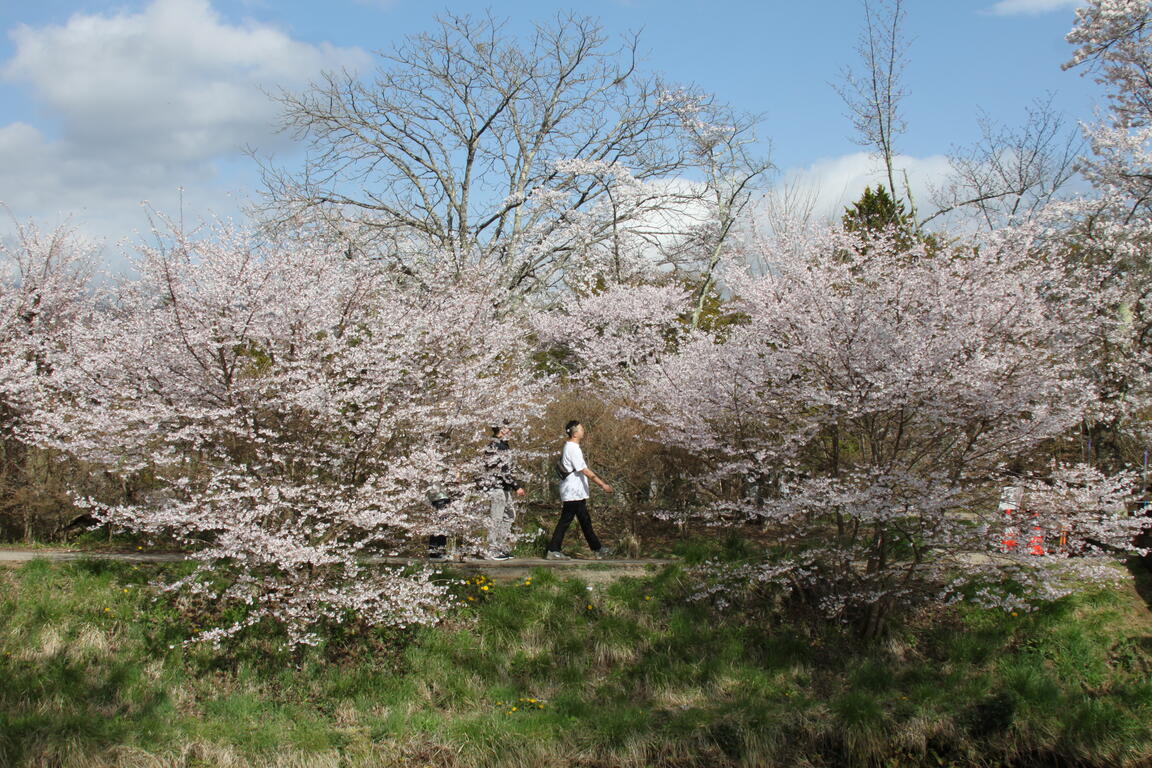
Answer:
[[[667,239],[669,212],[703,193],[654,183],[698,158],[684,92],[636,59],[635,38],[613,43],[589,18],[558,16],[522,40],[491,15],[446,15],[381,53],[371,82],[332,73],[279,94],[309,155],[296,170],[265,164],[266,211],[404,268],[432,259],[441,273],[480,268],[510,294],[547,290],[622,231]]]

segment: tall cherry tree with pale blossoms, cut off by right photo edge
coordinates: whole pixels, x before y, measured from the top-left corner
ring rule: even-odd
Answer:
[[[1066,68],[1093,76],[1107,109],[1085,127],[1090,153],[1079,169],[1096,199],[1048,212],[1068,257],[1092,265],[1104,330],[1090,370],[1108,408],[1084,425],[1085,454],[1119,464],[1152,446],[1152,3],[1092,0],[1076,12],[1068,35],[1076,51]]]

